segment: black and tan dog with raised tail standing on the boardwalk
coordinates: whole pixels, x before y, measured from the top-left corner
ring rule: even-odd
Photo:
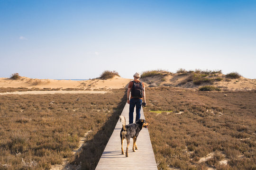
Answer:
[[[142,127],[147,128],[148,123],[146,123],[146,120],[144,119],[138,119],[135,123],[126,125],[125,117],[119,116],[119,118],[123,126],[120,132],[122,154],[124,154],[123,143],[124,143],[124,139],[126,139],[127,141],[126,157],[128,157],[128,147],[130,144],[130,138],[133,138],[132,151],[136,152],[135,150],[138,149],[136,144],[137,136],[140,130],[142,129]]]

